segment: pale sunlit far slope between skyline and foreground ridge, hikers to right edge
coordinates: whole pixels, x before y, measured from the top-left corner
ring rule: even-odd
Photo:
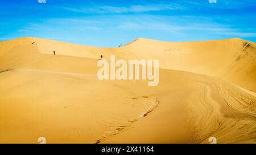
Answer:
[[[238,38],[165,42],[137,39],[122,48],[99,48],[33,38],[39,52],[110,59],[158,59],[160,68],[219,77],[256,92],[256,44]]]

